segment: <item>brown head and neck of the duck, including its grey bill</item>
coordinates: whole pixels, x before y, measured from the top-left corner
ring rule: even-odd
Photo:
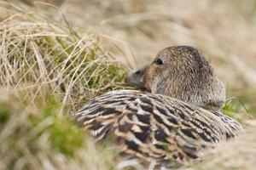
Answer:
[[[223,82],[207,59],[189,46],[161,50],[151,64],[132,73],[127,82],[211,111],[219,111],[224,105]]]

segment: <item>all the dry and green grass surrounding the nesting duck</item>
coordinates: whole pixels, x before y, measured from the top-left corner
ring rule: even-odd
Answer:
[[[224,113],[247,128],[182,168],[256,167],[255,0],[9,0],[0,2],[0,169],[143,168],[68,114],[131,88],[126,74],[172,45],[205,54],[227,88]]]

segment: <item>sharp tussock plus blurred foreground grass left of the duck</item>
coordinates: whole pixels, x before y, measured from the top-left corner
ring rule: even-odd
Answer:
[[[80,36],[68,25],[0,4],[1,169],[113,168],[116,151],[97,146],[68,115],[123,88],[125,67],[96,34]]]

